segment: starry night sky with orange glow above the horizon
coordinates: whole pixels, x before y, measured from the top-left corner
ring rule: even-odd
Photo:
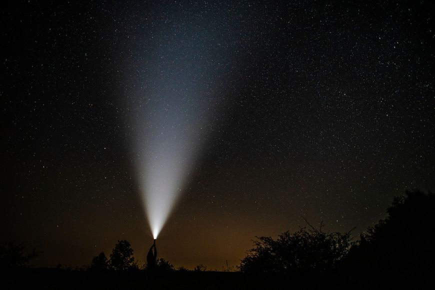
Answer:
[[[430,1],[73,2],[1,9],[0,241],[34,266],[118,239],[144,262],[156,148],[175,266],[234,266],[302,217],[357,236],[435,190]]]

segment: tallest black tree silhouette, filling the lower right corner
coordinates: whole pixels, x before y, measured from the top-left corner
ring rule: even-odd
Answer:
[[[421,280],[434,269],[435,195],[415,189],[394,197],[388,216],[360,235],[345,267],[362,276],[376,276],[397,283]],[[418,277],[418,278],[416,278]]]

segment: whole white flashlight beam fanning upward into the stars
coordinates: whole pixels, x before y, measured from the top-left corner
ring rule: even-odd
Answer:
[[[216,7],[204,21],[203,5],[170,5],[173,14],[160,22],[150,17],[142,30],[148,34],[131,37],[140,40],[129,48],[135,53],[126,77],[133,88],[127,101],[133,159],[154,238],[189,180],[236,66],[229,52],[239,51],[234,39],[241,32],[212,20],[227,17],[226,9]]]

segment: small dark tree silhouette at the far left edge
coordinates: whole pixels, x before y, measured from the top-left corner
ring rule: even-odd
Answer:
[[[13,241],[4,242],[0,245],[0,269],[13,269],[28,266],[30,259],[37,256],[33,249],[25,253],[25,245],[15,244]]]

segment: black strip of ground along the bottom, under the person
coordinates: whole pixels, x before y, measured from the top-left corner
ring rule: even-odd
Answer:
[[[241,272],[166,271],[146,282],[144,270],[92,272],[28,268],[3,272],[2,289],[429,289],[428,277],[341,274],[247,275]]]

